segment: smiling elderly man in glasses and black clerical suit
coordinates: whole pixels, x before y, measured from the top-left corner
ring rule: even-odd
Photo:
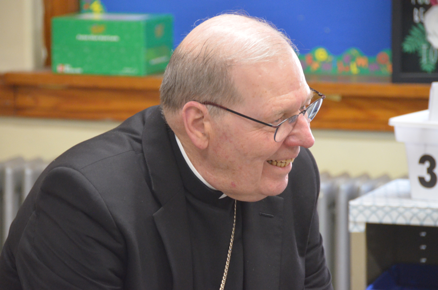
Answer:
[[[172,55],[161,107],[41,175],[4,245],[0,288],[332,289],[307,149],[323,98],[272,26],[206,20]]]

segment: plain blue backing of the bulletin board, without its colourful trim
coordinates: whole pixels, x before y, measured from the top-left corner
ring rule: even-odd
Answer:
[[[375,56],[391,48],[390,0],[101,0],[107,12],[171,13],[177,46],[199,19],[243,9],[265,18],[291,37],[302,54],[323,46],[331,54],[359,48]],[[199,21],[197,22],[200,23]]]

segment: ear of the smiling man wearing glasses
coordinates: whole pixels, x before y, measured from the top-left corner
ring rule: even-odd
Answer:
[[[190,101],[184,105],[182,116],[185,132],[193,145],[199,149],[207,148],[211,121],[208,109],[198,102]]]

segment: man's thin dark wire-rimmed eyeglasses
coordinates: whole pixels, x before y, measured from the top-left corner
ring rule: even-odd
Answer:
[[[310,88],[310,91],[317,94],[319,96],[319,98],[316,101],[314,101],[313,103],[311,103],[306,109],[299,112],[297,115],[294,115],[292,117],[289,117],[289,118],[283,120],[278,125],[272,125],[272,124],[268,124],[268,123],[256,120],[254,118],[248,117],[244,114],[238,113],[236,111],[233,111],[232,109],[228,109],[228,108],[221,106],[221,105],[218,105],[216,103],[202,102],[201,104],[218,107],[220,109],[227,110],[229,112],[232,112],[233,114],[247,118],[247,119],[252,120],[254,122],[257,122],[257,123],[260,123],[260,124],[263,124],[263,125],[266,125],[269,127],[273,127],[273,128],[275,128],[275,133],[274,133],[275,142],[281,142],[284,139],[286,139],[286,137],[289,135],[289,133],[292,132],[292,129],[295,126],[296,121],[298,120],[298,117],[300,116],[300,114],[302,114],[304,117],[306,117],[307,122],[310,123],[310,121],[313,120],[313,118],[316,116],[316,113],[318,113],[319,109],[321,108],[322,101],[325,99],[326,96],[323,95],[322,93],[320,93],[319,91],[313,90],[312,88]]]

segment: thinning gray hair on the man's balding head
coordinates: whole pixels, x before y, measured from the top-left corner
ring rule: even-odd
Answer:
[[[162,108],[176,112],[189,101],[241,102],[231,78],[233,65],[273,61],[293,51],[289,37],[264,19],[236,13],[210,18],[172,54],[160,87]],[[219,110],[210,108],[210,113]]]

